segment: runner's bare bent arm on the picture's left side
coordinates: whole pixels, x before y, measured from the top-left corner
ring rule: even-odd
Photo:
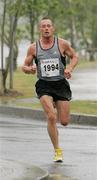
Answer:
[[[22,66],[22,71],[27,74],[35,74],[36,73],[36,65],[33,65],[33,59],[35,58],[36,54],[36,47],[35,43],[33,43],[27,51],[27,56],[24,60],[24,64]]]

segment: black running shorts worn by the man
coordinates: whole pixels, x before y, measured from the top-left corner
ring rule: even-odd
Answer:
[[[36,93],[38,98],[43,95],[49,95],[53,97],[54,101],[70,101],[72,92],[70,90],[70,85],[66,79],[59,81],[44,81],[38,80],[36,82]]]

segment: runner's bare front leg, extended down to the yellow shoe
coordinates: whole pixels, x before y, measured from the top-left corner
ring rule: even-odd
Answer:
[[[47,115],[47,119],[48,119],[47,129],[48,129],[50,139],[52,141],[54,149],[57,149],[57,148],[59,148],[58,129],[56,126],[57,113],[54,108],[53,99],[51,96],[44,95],[40,98],[40,102],[43,106],[43,109],[44,109],[46,115]]]

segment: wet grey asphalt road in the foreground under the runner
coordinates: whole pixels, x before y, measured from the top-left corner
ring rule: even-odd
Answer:
[[[97,127],[58,127],[64,154],[61,164],[52,161],[46,122],[0,114],[0,179],[36,180],[29,178],[35,165],[47,170],[50,180],[96,180]]]

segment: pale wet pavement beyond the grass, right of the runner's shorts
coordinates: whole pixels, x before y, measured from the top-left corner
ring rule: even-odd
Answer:
[[[97,67],[75,71],[70,86],[73,100],[97,100]]]

